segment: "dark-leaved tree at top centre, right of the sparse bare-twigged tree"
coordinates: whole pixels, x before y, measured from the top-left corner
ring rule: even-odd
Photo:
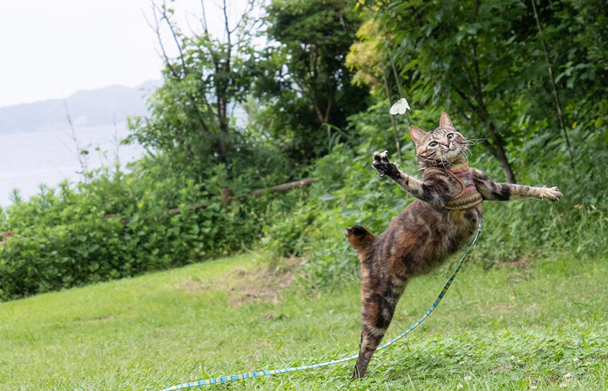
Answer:
[[[257,62],[257,96],[267,104],[271,135],[300,158],[329,149],[332,131],[366,107],[367,89],[344,65],[361,23],[348,0],[274,0],[267,7],[271,46]]]

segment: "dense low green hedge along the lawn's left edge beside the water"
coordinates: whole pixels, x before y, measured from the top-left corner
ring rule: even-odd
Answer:
[[[168,175],[167,166],[158,163],[142,161],[130,174],[102,169],[75,189],[67,183],[57,191],[42,188],[28,202],[16,200],[2,211],[0,230],[14,236],[0,246],[0,300],[251,248],[264,225],[305,191],[225,205],[218,187],[221,166],[209,169],[204,184],[195,184],[183,174]],[[242,181],[223,185],[236,188]]]

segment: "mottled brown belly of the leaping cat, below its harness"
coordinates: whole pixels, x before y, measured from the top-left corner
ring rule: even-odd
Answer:
[[[437,267],[471,239],[484,210],[447,210],[415,200],[378,236],[393,272],[419,275]]]

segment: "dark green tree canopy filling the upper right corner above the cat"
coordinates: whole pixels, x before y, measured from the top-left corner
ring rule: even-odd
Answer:
[[[486,138],[484,145],[508,181],[515,181],[508,148],[513,151],[530,140],[530,145],[541,146],[542,154],[551,145],[568,151],[572,159],[568,133],[587,126],[583,124],[597,127],[591,124],[601,124],[605,117],[592,114],[594,108],[601,111],[607,95],[606,63],[600,61],[606,53],[605,2],[414,0],[365,5],[374,24],[381,26],[376,35],[366,30],[366,40],[380,37],[376,51],[381,61],[397,68],[411,101],[447,110],[468,125],[467,136]],[[361,74],[374,74],[378,84],[382,67],[366,64],[371,56],[355,56],[354,49],[351,53]],[[585,117],[593,120],[583,121]]]

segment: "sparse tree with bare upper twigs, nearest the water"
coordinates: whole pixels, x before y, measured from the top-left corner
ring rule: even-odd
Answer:
[[[149,25],[156,33],[165,61],[164,83],[149,101],[151,116],[133,118],[133,138],[146,147],[168,152],[187,164],[228,160],[230,143],[237,136],[230,129],[230,105],[244,99],[250,80],[240,72],[250,54],[247,12],[238,21],[228,17],[226,0],[221,5],[224,39],[214,37],[201,2],[201,31],[187,36],[173,22],[175,10],[151,4]],[[173,38],[177,56],[171,58],[161,29]],[[196,164],[198,163],[198,164]]]

